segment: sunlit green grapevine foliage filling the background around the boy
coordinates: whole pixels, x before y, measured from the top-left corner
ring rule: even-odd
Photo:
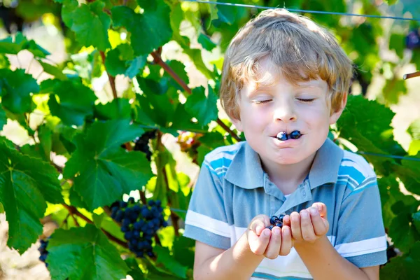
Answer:
[[[284,3],[288,8],[381,15],[367,0],[353,1],[353,6],[343,0]],[[177,0],[25,0],[17,12],[27,19],[45,14],[55,18],[69,57],[53,65],[48,50],[21,33],[0,41],[0,129],[15,120],[35,143],[19,146],[6,137],[0,139],[0,210],[9,223],[8,246],[24,253],[42,234],[40,219],[50,215],[68,225],[55,231],[48,246],[53,279],[119,279],[127,274],[134,279],[191,279],[194,242],[182,237],[182,221],[195,179],[176,172],[176,159],[162,137],[193,132],[194,146],[186,145],[183,137],[179,141],[196,165],[217,146],[241,140],[237,131],[230,130],[229,120],[218,117],[219,78],[230,38],[258,10]],[[377,101],[362,95],[349,98],[330,136],[343,148],[420,160],[420,120],[409,127],[412,143],[405,151],[393,138],[395,114],[388,109],[407,93],[399,69],[407,64],[420,69],[420,50],[406,52],[404,44],[405,34],[418,27],[416,23],[398,22],[395,28],[386,28],[377,19],[306,15],[337,36],[358,65],[356,83],[363,91],[373,76],[386,78]],[[183,27],[193,31],[186,34]],[[398,62],[379,56],[379,41],[395,51]],[[176,42],[207,78],[207,87],[189,88],[191,77],[183,62],[162,59],[162,47],[169,42]],[[49,79],[41,81],[10,66],[10,57],[22,50],[34,55]],[[210,64],[203,59],[209,52],[218,57]],[[99,101],[92,86],[92,79],[104,71],[113,90],[113,99],[106,103]],[[115,84],[118,75],[129,79],[129,87],[120,94]],[[29,126],[34,113],[43,115],[38,127]],[[157,139],[151,141],[152,162],[144,153],[132,151],[134,139],[150,129],[158,129]],[[67,159],[64,169],[52,162],[52,152]],[[420,163],[364,156],[378,174],[384,224],[400,252],[381,267],[381,279],[418,279],[420,203],[414,195],[420,195]],[[402,193],[400,186],[408,192]],[[141,200],[162,200],[172,223],[158,233],[157,258],[134,258],[109,217],[108,206],[132,191]],[[77,223],[67,221],[69,213]]]

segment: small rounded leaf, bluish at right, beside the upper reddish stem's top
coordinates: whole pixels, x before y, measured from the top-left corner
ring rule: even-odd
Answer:
[[[134,58],[134,52],[130,45],[121,44],[107,53],[105,67],[106,71],[108,71],[111,76],[123,74],[129,78],[134,78],[142,69],[144,69],[146,61],[146,55]]]

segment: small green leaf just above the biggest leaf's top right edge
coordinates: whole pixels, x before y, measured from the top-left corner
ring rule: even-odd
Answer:
[[[113,99],[107,104],[97,104],[94,107],[94,116],[100,120],[112,120],[117,118],[130,118],[130,100],[124,98]]]

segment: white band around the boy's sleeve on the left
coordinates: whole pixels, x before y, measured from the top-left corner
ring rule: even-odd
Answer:
[[[197,228],[202,228],[208,232],[212,232],[215,235],[221,235],[223,237],[230,237],[233,225],[228,223],[210,218],[209,216],[197,213],[195,211],[188,210],[186,216],[186,224],[194,225]]]

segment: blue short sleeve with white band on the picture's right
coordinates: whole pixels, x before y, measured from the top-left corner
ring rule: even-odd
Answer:
[[[357,267],[382,265],[386,235],[376,176],[349,188],[339,210],[335,249]]]

